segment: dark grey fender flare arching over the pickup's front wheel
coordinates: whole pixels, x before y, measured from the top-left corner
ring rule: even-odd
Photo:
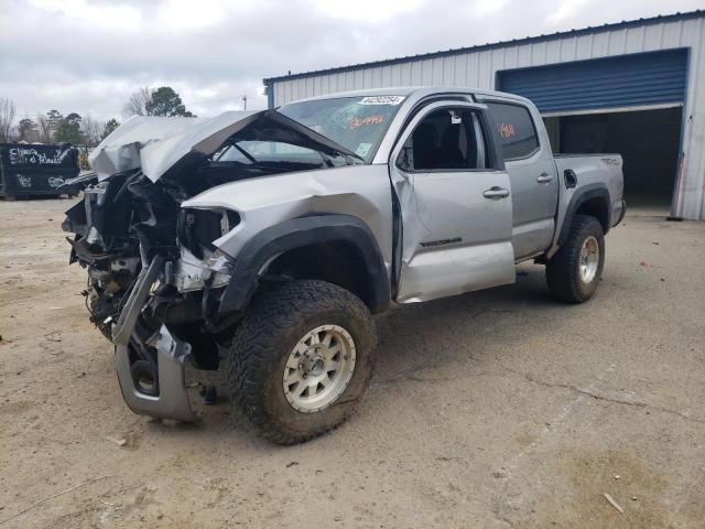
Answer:
[[[249,303],[267,262],[288,250],[308,245],[346,241],[360,252],[369,277],[372,313],[384,312],[390,303],[389,277],[375,235],[369,226],[351,215],[313,215],[293,218],[263,229],[248,240],[234,260],[218,312],[241,311]]]

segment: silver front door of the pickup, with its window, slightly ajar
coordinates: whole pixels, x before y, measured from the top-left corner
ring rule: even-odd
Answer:
[[[431,104],[392,151],[398,303],[514,281],[511,185],[486,112]]]

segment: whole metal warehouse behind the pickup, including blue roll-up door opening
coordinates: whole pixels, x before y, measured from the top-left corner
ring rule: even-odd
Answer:
[[[628,203],[705,219],[705,11],[264,79],[269,107],[394,86],[511,91],[553,149],[619,152]]]

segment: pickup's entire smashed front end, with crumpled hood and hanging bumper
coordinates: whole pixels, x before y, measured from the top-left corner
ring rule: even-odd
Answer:
[[[224,150],[239,155],[239,141],[267,140],[316,149],[321,161],[218,161]],[[239,213],[188,207],[188,201],[238,180],[329,168],[330,156],[350,163],[344,151],[273,110],[214,119],[135,117],[96,149],[95,175],[84,182],[85,198],[66,212],[63,228],[74,234],[67,238],[70,262],[88,272],[90,320],[115,344],[132,411],[197,420],[185,367],[218,369],[241,319],[223,303],[236,259],[214,245],[237,229]]]

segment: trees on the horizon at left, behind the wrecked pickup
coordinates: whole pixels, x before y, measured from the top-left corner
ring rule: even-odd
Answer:
[[[135,115],[196,117],[186,110],[181,96],[171,86],[154,89],[143,86],[134,91],[122,107],[122,117],[127,119]],[[0,97],[0,143],[25,141],[96,147],[120,126],[116,118],[100,121],[77,112],[64,116],[56,109],[37,114],[34,119],[26,116],[15,121],[15,117],[14,101]]]

